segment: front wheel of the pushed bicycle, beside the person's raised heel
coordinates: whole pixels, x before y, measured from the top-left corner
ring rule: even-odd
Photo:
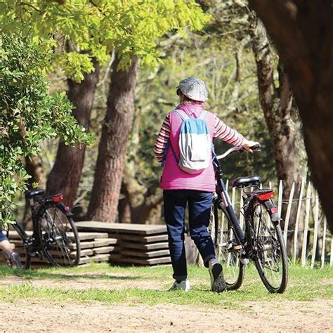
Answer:
[[[244,265],[240,262],[240,250],[233,228],[228,216],[218,204],[212,207],[211,220],[214,221],[212,238],[214,241],[216,258],[223,266],[223,275],[226,280],[226,289],[235,290],[240,288],[244,280]]]

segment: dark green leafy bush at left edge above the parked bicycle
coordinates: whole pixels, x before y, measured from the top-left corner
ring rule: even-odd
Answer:
[[[22,157],[37,155],[42,141],[60,137],[68,145],[92,137],[72,117],[65,93],[48,94],[44,73],[51,51],[20,37],[0,34],[0,223],[11,221],[15,193],[29,176]]]

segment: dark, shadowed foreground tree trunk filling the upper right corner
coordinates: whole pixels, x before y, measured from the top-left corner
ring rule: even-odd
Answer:
[[[311,178],[333,233],[332,1],[249,0],[278,48],[303,123]]]

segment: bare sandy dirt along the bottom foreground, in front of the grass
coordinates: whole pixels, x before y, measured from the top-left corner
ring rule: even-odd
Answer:
[[[333,300],[248,304],[249,311],[195,306],[0,302],[4,332],[333,332]],[[23,320],[22,320],[23,319]]]

